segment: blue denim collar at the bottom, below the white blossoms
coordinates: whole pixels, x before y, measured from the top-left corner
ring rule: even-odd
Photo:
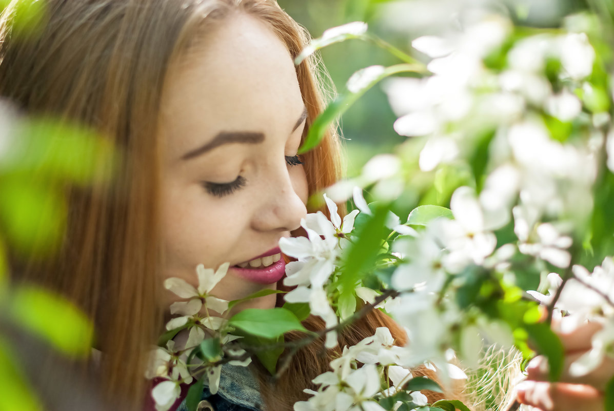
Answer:
[[[263,411],[265,405],[260,397],[260,386],[247,367],[223,364],[217,394],[211,394],[204,380],[201,401],[206,399],[216,411]],[[188,411],[185,399],[177,411]]]

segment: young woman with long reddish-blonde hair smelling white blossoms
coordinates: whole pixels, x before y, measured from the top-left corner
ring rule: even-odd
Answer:
[[[103,389],[139,409],[146,353],[171,302],[163,280],[195,283],[196,265],[230,262],[212,294],[231,300],[276,288],[279,273],[261,257],[281,258],[278,241],[297,234],[309,195],[339,177],[335,130],[297,155],[323,108],[319,69],[313,60],[293,64],[309,37],[273,0],[48,0],[26,33],[12,31],[18,3],[2,18],[0,95],[29,115],[93,128],[120,155],[108,165],[109,186],[63,187],[61,251],[16,260],[15,272],[95,320]],[[254,304],[274,307],[275,297]],[[322,327],[317,318],[305,325]],[[405,343],[374,311],[340,335],[340,346],[378,326]],[[300,351],[275,385],[255,368],[269,410],[306,398],[302,390],[335,355],[321,348]]]

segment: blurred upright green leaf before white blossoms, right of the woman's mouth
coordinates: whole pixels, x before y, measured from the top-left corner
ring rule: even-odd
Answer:
[[[352,244],[341,265],[339,276],[340,298],[343,294],[353,296],[357,281],[365,276],[375,264],[379,248],[386,235],[386,217],[389,206],[378,204],[373,216],[356,230],[356,242]],[[389,232],[389,231],[388,231]]]

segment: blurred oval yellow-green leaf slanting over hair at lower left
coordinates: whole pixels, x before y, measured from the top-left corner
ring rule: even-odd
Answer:
[[[90,354],[93,325],[68,300],[33,286],[20,286],[12,293],[9,316],[29,332],[71,356]]]

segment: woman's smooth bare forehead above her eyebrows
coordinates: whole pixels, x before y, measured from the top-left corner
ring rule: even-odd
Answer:
[[[225,18],[180,59],[169,73],[160,122],[176,154],[219,131],[281,131],[300,115],[303,103],[289,50],[257,18]]]

